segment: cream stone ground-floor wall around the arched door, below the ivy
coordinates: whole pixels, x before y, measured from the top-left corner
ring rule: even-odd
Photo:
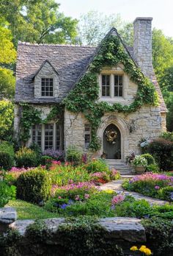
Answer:
[[[84,124],[87,120],[84,115],[65,111],[65,148],[76,146],[81,151],[84,149]],[[121,132],[122,160],[131,152],[140,153],[139,141],[141,138],[158,138],[166,130],[165,115],[161,115],[159,107],[144,106],[135,113],[106,113],[102,120],[97,135],[101,141],[101,149],[93,154],[100,157],[103,153],[103,132],[109,124],[115,124]]]

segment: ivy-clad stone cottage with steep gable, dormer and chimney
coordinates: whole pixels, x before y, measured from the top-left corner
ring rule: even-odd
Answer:
[[[133,28],[133,47],[114,28],[97,47],[18,43],[16,138],[122,162],[141,138],[157,138],[166,105],[152,68],[152,18]]]

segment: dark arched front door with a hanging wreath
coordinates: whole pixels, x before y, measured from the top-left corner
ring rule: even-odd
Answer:
[[[121,159],[121,133],[114,124],[103,132],[103,152],[107,159]]]

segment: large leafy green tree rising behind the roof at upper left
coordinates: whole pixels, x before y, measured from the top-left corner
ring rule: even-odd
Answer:
[[[31,43],[73,43],[76,19],[59,13],[55,0],[1,0],[0,13],[9,22],[15,46]]]

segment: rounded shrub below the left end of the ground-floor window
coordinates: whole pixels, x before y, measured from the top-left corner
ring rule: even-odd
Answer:
[[[37,153],[26,147],[22,147],[15,153],[15,160],[18,167],[37,166],[39,161]]]

